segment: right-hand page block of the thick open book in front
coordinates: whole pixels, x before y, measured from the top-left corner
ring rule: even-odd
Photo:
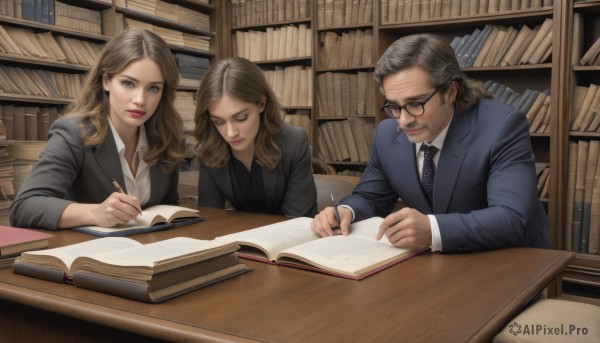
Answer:
[[[112,276],[123,276],[123,267],[132,267],[126,270],[132,278],[194,262],[194,256],[202,255],[196,260],[205,260],[210,252],[224,248],[221,242],[205,241],[188,237],[175,237],[130,247],[118,251],[107,251],[96,254],[84,254],[72,266],[73,271],[90,271]],[[232,245],[229,252],[235,251],[237,245]],[[112,266],[118,266],[113,268]],[[137,268],[136,268],[137,267]]]

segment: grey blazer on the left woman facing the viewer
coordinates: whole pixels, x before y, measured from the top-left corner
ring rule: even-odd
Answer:
[[[98,147],[86,147],[81,139],[79,118],[66,116],[52,124],[48,137],[40,160],[10,208],[13,226],[56,230],[67,205],[103,202],[115,192],[113,177],[125,184],[111,130]],[[150,169],[150,180],[152,189],[146,206],[178,204],[177,171],[165,174],[160,165],[155,165]]]

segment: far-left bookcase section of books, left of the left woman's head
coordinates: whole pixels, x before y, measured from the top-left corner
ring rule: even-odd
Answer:
[[[105,1],[0,2],[0,223],[104,43]]]

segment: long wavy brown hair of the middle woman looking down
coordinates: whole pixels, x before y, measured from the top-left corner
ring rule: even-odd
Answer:
[[[231,159],[229,145],[208,112],[208,106],[224,95],[251,104],[258,104],[261,98],[266,98],[265,109],[260,114],[258,134],[254,140],[254,155],[261,167],[274,169],[283,155],[280,143],[283,128],[281,105],[263,71],[241,57],[213,63],[200,83],[194,115],[198,158],[211,168],[223,167]]]

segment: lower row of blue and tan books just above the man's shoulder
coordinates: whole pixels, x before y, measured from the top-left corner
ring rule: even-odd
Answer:
[[[494,99],[525,113],[529,132],[550,132],[550,89],[538,91],[528,88],[523,93],[519,93],[507,85],[491,80],[486,81],[483,88],[493,93]]]

